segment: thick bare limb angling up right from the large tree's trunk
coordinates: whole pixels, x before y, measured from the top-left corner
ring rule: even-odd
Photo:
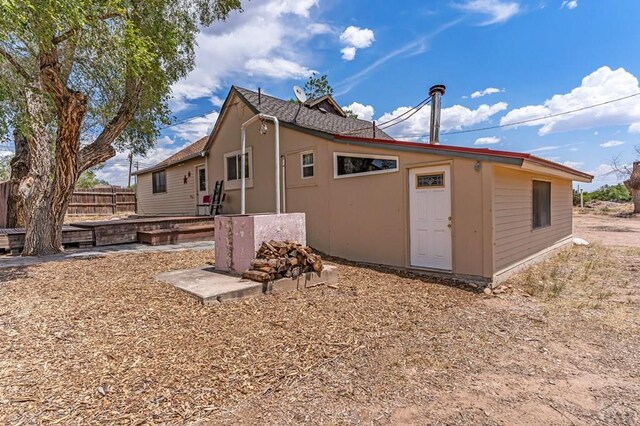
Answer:
[[[78,174],[115,155],[115,149],[111,145],[133,120],[140,105],[141,92],[142,81],[138,77],[128,76],[125,82],[124,98],[118,112],[102,129],[96,140],[80,150]]]

